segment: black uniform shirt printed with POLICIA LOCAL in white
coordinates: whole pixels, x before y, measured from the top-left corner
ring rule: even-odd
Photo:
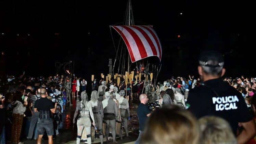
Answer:
[[[241,93],[220,78],[205,81],[190,90],[186,106],[197,118],[206,115],[224,118],[235,135],[238,122],[253,119]]]

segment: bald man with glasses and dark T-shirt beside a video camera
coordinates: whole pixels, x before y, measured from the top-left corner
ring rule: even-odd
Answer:
[[[151,111],[149,109],[149,106],[146,105],[146,103],[148,102],[149,98],[146,94],[141,94],[140,95],[140,104],[137,108],[137,115],[138,115],[138,119],[139,119],[139,137],[138,139],[135,141],[135,144],[139,144],[140,143],[140,139],[141,139],[141,135],[143,133],[143,129],[144,129],[144,125],[146,123],[146,119],[150,116]]]

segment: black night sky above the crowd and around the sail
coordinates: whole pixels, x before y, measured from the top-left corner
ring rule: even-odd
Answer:
[[[126,0],[1,1],[0,51],[5,55],[0,72],[47,76],[56,73],[55,62],[75,60],[75,73],[82,77],[107,73],[108,58],[115,57],[109,25],[124,22],[126,6]],[[225,54],[227,75],[254,74],[252,6],[247,1],[132,0],[135,25],[153,25],[162,43],[160,78],[196,75],[197,55],[206,48]],[[156,57],[146,60],[159,64]]]

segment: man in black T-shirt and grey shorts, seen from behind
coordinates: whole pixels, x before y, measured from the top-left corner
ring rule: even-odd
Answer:
[[[37,144],[41,144],[44,131],[46,130],[48,135],[48,144],[53,144],[52,135],[53,131],[53,119],[52,114],[55,113],[57,103],[53,105],[53,102],[47,99],[47,92],[45,88],[40,89],[41,98],[35,102],[34,110],[39,112],[39,119],[37,122],[38,139]]]

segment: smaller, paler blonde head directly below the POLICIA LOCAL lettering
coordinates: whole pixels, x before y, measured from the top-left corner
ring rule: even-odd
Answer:
[[[229,123],[216,116],[204,116],[199,119],[201,144],[237,144]]]

